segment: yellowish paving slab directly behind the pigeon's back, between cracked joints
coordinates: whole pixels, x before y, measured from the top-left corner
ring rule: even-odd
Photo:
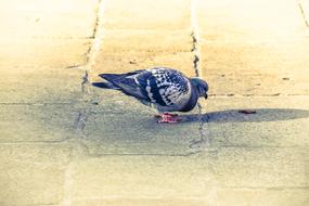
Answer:
[[[192,68],[193,56],[190,52],[171,51],[102,51],[101,59],[91,72],[93,81],[102,80],[98,75],[102,73],[126,73],[130,70],[166,66],[177,68],[189,77],[195,76]],[[104,57],[103,57],[104,56]]]

